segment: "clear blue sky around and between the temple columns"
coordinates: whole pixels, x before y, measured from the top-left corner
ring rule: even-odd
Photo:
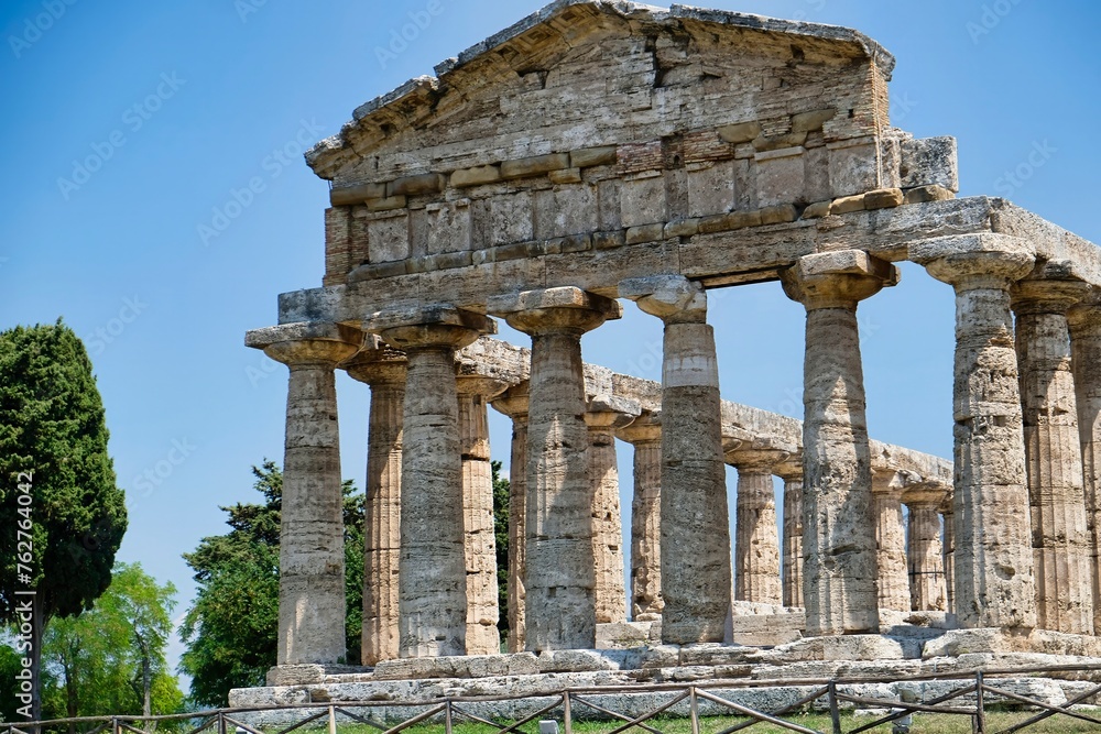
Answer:
[[[194,590],[181,554],[225,530],[219,504],[258,496],[250,465],[282,461],[286,371],[242,338],[275,322],[279,293],[320,284],[327,186],[302,150],[336,133],[357,106],[542,4],[436,1],[440,12],[404,50],[391,47],[394,35],[429,0],[0,8],[0,328],[63,316],[85,338],[129,494],[120,559],[173,581],[177,612]],[[962,195],[1007,196],[1101,241],[1092,201],[1101,6],[711,4],[871,35],[897,57],[896,124],[959,139]],[[1047,151],[1043,165],[1031,167],[1037,149]],[[1028,175],[1014,185],[1004,175],[1018,166]],[[215,221],[253,178],[262,190]],[[224,231],[204,242],[204,224]],[[902,285],[861,306],[871,431],[950,456],[951,292],[917,267],[904,271]],[[798,416],[802,307],[776,284],[712,292],[711,303],[724,396]],[[659,379],[659,322],[626,311],[586,339],[585,357]],[[344,471],[362,487],[368,391],[347,379],[339,391]],[[504,460],[508,431],[493,414],[494,454]],[[624,508],[630,461],[628,448]]]

